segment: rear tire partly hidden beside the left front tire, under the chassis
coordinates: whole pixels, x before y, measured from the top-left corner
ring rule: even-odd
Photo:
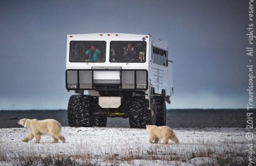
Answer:
[[[98,104],[99,98],[94,97],[94,125],[96,127],[106,127],[107,126],[107,114],[102,114],[102,108]]]

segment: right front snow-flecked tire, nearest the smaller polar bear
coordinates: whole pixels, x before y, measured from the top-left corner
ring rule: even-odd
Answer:
[[[133,128],[145,128],[147,124],[156,122],[156,102],[151,100],[151,109],[149,109],[149,100],[143,98],[134,98],[131,100],[128,110],[129,124]]]

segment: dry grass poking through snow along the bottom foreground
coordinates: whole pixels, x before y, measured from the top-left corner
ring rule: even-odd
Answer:
[[[58,144],[54,149],[35,144],[4,145],[0,140],[0,162],[12,165],[248,165],[245,151],[240,145],[232,142],[220,142],[212,145],[202,142],[200,145],[189,142],[181,145],[152,144],[143,146],[140,142],[109,142],[109,147],[88,145],[84,142],[77,144]],[[94,146],[91,148],[91,146]],[[13,149],[15,147],[15,150]],[[220,148],[221,147],[221,148]],[[88,150],[88,149],[95,149]],[[29,151],[29,153],[28,153]],[[255,160],[254,156],[254,160]],[[139,160],[139,164],[136,161]],[[1,163],[0,163],[1,164]],[[154,165],[154,164],[152,164]]]

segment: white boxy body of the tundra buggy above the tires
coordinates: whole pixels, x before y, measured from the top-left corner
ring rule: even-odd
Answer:
[[[104,42],[106,44],[105,50],[101,50],[101,52],[104,51],[105,53],[104,62],[71,62],[71,43],[82,41]],[[111,42],[115,41],[146,42],[145,57],[142,57],[143,62],[111,62]],[[140,58],[140,61],[142,61],[142,59]],[[88,72],[86,70],[88,70]],[[132,73],[133,70],[136,70],[135,75],[122,78],[125,72],[129,73],[131,71],[130,73]],[[147,71],[147,77],[140,76],[140,74],[143,75],[140,73],[140,70],[143,70],[143,72]],[[83,73],[86,73],[86,76],[83,76]],[[133,81],[131,82],[130,79]],[[145,79],[147,79],[147,86],[144,84]],[[134,82],[134,80],[136,81]],[[127,82],[123,83],[125,81]],[[114,89],[114,91],[145,91],[145,95],[148,95],[147,98],[150,97],[149,95],[165,95],[165,97],[167,97],[166,101],[168,102],[170,96],[173,94],[173,83],[172,62],[170,61],[167,43],[159,39],[154,39],[149,35],[122,33],[67,35],[66,89],[68,91],[81,89],[100,91],[95,88],[96,86],[94,86],[94,84],[104,83],[121,84],[121,86]],[[106,86],[104,90],[108,91],[111,89],[108,89]]]

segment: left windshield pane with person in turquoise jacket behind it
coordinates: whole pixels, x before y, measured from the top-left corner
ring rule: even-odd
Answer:
[[[71,41],[69,62],[105,62],[106,42]]]

